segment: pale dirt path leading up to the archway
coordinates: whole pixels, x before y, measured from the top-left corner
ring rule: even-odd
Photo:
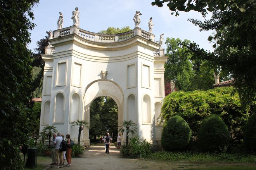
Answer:
[[[105,153],[104,146],[91,146],[86,149],[81,158],[72,158],[71,167],[59,169],[66,170],[185,170],[189,168],[206,168],[220,166],[246,166],[239,164],[222,163],[191,163],[191,162],[171,162],[171,161],[152,161],[123,158],[115,148],[112,148],[109,154]],[[49,165],[47,170],[54,170],[54,166]],[[251,166],[251,165],[250,165]],[[255,166],[255,165],[254,165]]]

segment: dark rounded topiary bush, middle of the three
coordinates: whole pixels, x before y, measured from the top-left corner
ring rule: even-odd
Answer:
[[[223,151],[230,142],[227,125],[215,114],[208,115],[199,126],[197,143],[202,151]]]

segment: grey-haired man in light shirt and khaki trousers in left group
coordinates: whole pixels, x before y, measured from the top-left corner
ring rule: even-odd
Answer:
[[[63,163],[63,152],[61,151],[61,143],[62,143],[62,136],[61,133],[58,132],[57,137],[54,139],[54,145],[55,147],[55,151],[56,151],[56,159],[57,159],[57,165],[54,168],[63,168],[62,167],[62,163]],[[61,166],[59,166],[59,159],[61,159]]]

